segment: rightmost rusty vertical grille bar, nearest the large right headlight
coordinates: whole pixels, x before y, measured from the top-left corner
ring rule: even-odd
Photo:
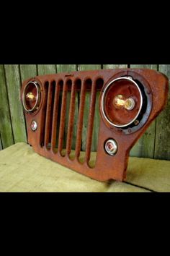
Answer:
[[[95,113],[96,98],[97,98],[97,87],[96,87],[96,82],[93,82],[91,86],[89,120],[88,120],[87,136],[86,136],[86,155],[85,155],[86,163],[89,162],[90,153],[91,153],[91,142],[92,142],[92,135],[93,135],[93,127],[94,127],[94,113]]]

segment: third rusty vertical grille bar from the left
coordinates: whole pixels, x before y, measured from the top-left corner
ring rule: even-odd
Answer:
[[[63,149],[64,127],[65,127],[65,120],[66,120],[67,92],[68,92],[68,86],[71,85],[71,83],[72,83],[71,80],[67,80],[63,85],[63,97],[62,97],[62,103],[61,103],[61,121],[60,121],[60,129],[59,129],[59,136],[58,136],[59,155],[62,155],[61,150]]]

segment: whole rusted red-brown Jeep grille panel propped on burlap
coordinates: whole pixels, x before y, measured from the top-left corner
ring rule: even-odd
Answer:
[[[105,105],[102,101],[104,93],[107,91],[107,87],[112,84],[112,81],[120,80],[119,82],[121,82],[122,79],[124,79],[124,92],[126,86],[124,84],[127,82],[129,83],[127,84],[129,88],[127,91],[130,90],[135,93],[135,85],[130,85],[130,82],[134,84],[138,82],[139,89],[141,90],[140,95],[143,94],[143,105],[145,106],[141,108],[141,113],[138,115],[139,120],[136,119],[133,124],[129,123],[127,127],[125,125],[124,127],[116,127],[112,125],[112,121],[107,120],[103,111]],[[164,107],[167,78],[163,74],[150,69],[106,69],[89,72],[71,72],[70,74],[48,74],[32,77],[23,82],[21,91],[22,103],[24,97],[26,97],[29,100],[29,104],[33,104],[32,102],[37,98],[37,95],[34,95],[34,93],[36,94],[34,86],[40,88],[40,92],[37,90],[40,101],[36,101],[37,106],[34,111],[29,111],[29,107],[27,109],[24,106],[27,122],[27,140],[34,150],[40,155],[57,161],[93,179],[101,181],[117,179],[122,181],[125,179],[130,148],[133,147],[151,121]],[[120,84],[117,87],[118,89],[115,90],[118,92],[121,86]],[[29,89],[32,91],[30,92]],[[87,93],[90,94],[90,101],[86,136],[84,136],[83,124]],[[114,87],[113,93],[115,93]],[[138,94],[137,90],[136,94]],[[77,95],[79,95],[78,106],[76,104]],[[135,100],[131,99],[128,103],[136,102],[137,106],[137,101],[140,101],[140,98],[138,95],[133,96]],[[25,104],[28,106],[27,101]],[[112,111],[112,106],[107,105],[107,112]],[[122,106],[124,105],[121,105],[121,108]],[[79,112],[78,119],[76,120],[76,143],[73,146],[76,108],[79,108]],[[127,107],[123,112],[121,108],[116,109],[116,111],[120,111],[117,112],[117,116],[125,113],[128,119],[133,111],[128,111]],[[131,108],[129,107],[129,109]],[[96,159],[91,162],[91,143],[96,113],[99,113],[100,116],[98,145],[97,153],[95,154]],[[112,114],[113,116],[115,115],[114,113]],[[66,116],[68,116],[68,119],[66,119]],[[84,152],[82,152],[81,147],[82,138],[86,141]],[[115,142],[113,145],[117,145],[117,150],[115,151],[116,153],[109,154],[110,148],[108,151],[106,150],[107,144],[111,143],[111,146],[109,144],[108,146],[112,149],[112,141]]]

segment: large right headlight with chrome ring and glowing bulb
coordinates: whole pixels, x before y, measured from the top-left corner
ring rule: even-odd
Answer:
[[[143,106],[143,95],[131,77],[109,82],[102,95],[102,114],[115,127],[133,124]]]

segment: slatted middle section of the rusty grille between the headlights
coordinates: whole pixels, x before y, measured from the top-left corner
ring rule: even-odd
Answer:
[[[90,78],[83,80],[54,80],[44,83],[45,90],[45,111],[42,119],[42,137],[40,145],[45,150],[51,150],[54,154],[60,156],[67,155],[70,158],[82,160],[89,164],[91,155],[91,142],[94,127],[94,114],[99,111],[95,109],[97,93],[100,92],[103,86],[102,78],[92,81]],[[88,126],[86,127],[86,150],[83,154],[81,142],[83,135],[84,111],[86,110],[86,93],[90,93],[90,106],[88,113]],[[67,101],[68,93],[70,101]],[[79,115],[76,127],[76,147],[71,146],[73,140],[73,120],[76,107],[76,93],[79,93]],[[68,125],[66,128],[66,109],[68,106]],[[98,106],[97,106],[98,107]],[[65,132],[66,130],[66,132]],[[71,154],[72,150],[72,154]],[[74,151],[73,151],[74,150]],[[71,155],[70,155],[71,154]],[[83,155],[83,157],[82,157]],[[82,159],[84,158],[84,159]],[[94,167],[94,162],[91,163],[91,168]]]

